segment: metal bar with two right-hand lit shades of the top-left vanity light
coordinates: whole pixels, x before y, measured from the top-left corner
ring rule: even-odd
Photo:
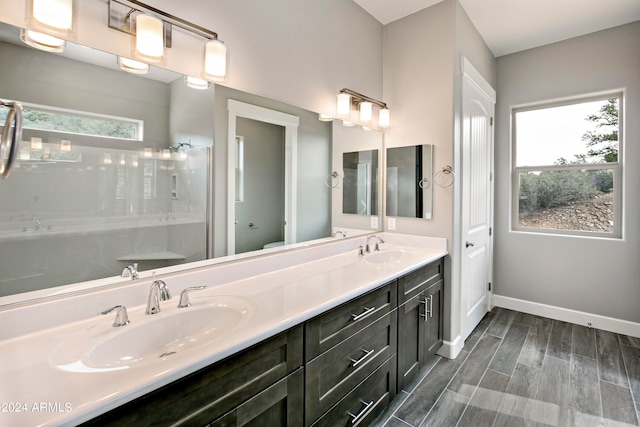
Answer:
[[[164,61],[166,48],[172,44],[174,26],[205,40],[202,78],[226,80],[228,50],[218,40],[217,33],[137,0],[109,0],[109,27],[131,34],[132,56],[136,59],[152,63]]]

